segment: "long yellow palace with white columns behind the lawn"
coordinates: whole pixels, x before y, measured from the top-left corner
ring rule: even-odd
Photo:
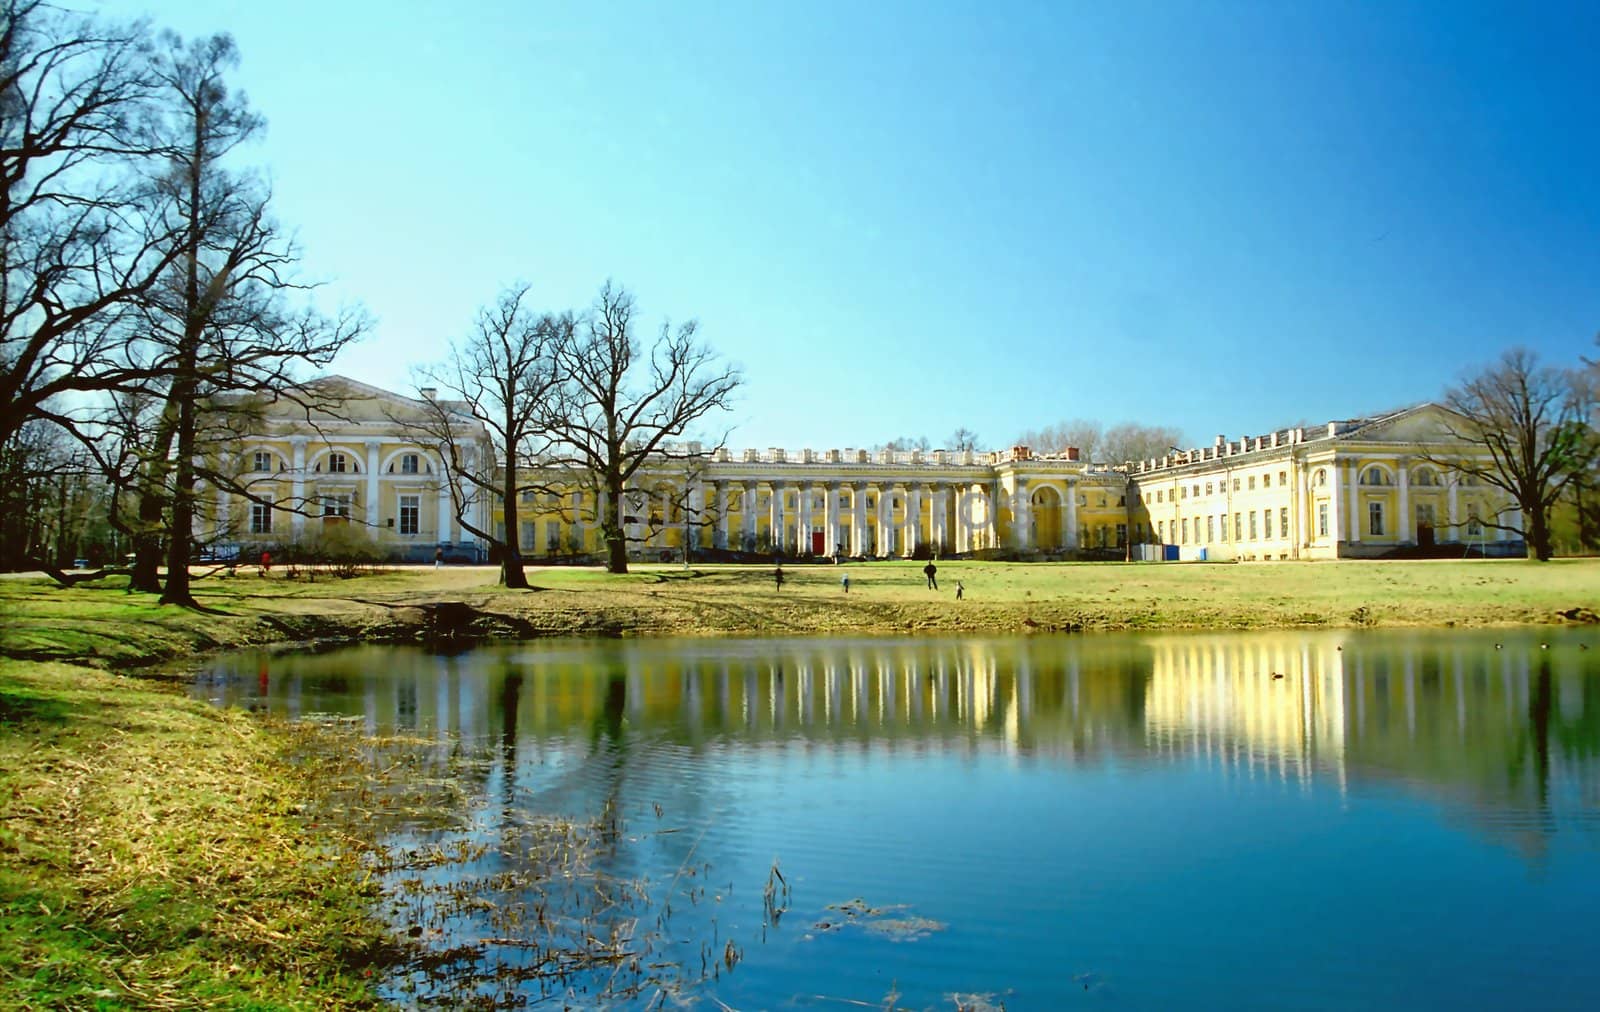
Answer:
[[[427,404],[342,376],[307,384],[338,410],[261,407],[256,432],[216,461],[250,495],[213,493],[198,538],[270,546],[350,528],[397,559],[485,560],[502,530],[486,498],[451,496],[446,456],[418,423]],[[422,391],[427,400],[432,391]],[[1456,546],[1522,554],[1514,504],[1453,461],[1480,447],[1432,404],[1227,439],[1115,466],[1077,450],[728,450],[675,447],[619,504],[630,554],[682,559],[910,557],[997,549],[1040,559],[1288,560]],[[451,415],[459,466],[493,468],[488,431]],[[678,458],[678,453],[686,458]],[[518,503],[530,560],[605,551],[611,509],[587,476],[538,463]],[[1499,527],[1496,527],[1499,525]],[[1510,527],[1512,530],[1506,530]]]

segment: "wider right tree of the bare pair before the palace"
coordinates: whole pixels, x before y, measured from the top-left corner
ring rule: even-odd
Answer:
[[[634,296],[606,282],[574,339],[557,349],[560,386],[542,429],[558,447],[557,466],[587,472],[605,498],[600,530],[606,568],[627,572],[624,492],[646,466],[706,458],[725,440],[699,448],[678,440],[707,416],[726,410],[742,383],[736,367],[696,339],[691,320],[661,325],[650,351],[635,336]]]

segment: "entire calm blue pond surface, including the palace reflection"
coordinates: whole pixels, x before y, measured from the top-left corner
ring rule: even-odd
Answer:
[[[408,1001],[1600,1004],[1594,631],[352,649],[195,693],[462,773],[392,826],[461,857],[394,916],[499,974]],[[557,922],[618,958],[552,974]]]

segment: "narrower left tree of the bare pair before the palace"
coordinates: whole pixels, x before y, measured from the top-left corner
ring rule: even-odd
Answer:
[[[424,397],[416,418],[397,418],[438,445],[446,460],[450,498],[464,530],[490,543],[501,560],[501,583],[525,589],[518,503],[525,492],[544,484],[522,480],[525,466],[544,463],[550,436],[542,428],[557,394],[557,357],[573,343],[574,320],[568,314],[536,312],[528,285],[501,291],[493,306],[480,309],[472,331],[450,349],[443,365],[422,370],[443,397]],[[494,460],[480,460],[466,444],[477,421],[490,431]],[[475,506],[498,501],[504,530],[478,524]]]

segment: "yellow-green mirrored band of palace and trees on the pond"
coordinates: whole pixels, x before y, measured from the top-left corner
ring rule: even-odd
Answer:
[[[1426,788],[1469,807],[1600,794],[1600,684],[1573,644],[1310,632],[1029,641],[558,642],[270,658],[235,701],[515,748],[654,740],[1198,762]],[[378,676],[366,676],[378,671]],[[1282,677],[1275,677],[1282,676]],[[1538,836],[1538,833],[1534,833]]]

